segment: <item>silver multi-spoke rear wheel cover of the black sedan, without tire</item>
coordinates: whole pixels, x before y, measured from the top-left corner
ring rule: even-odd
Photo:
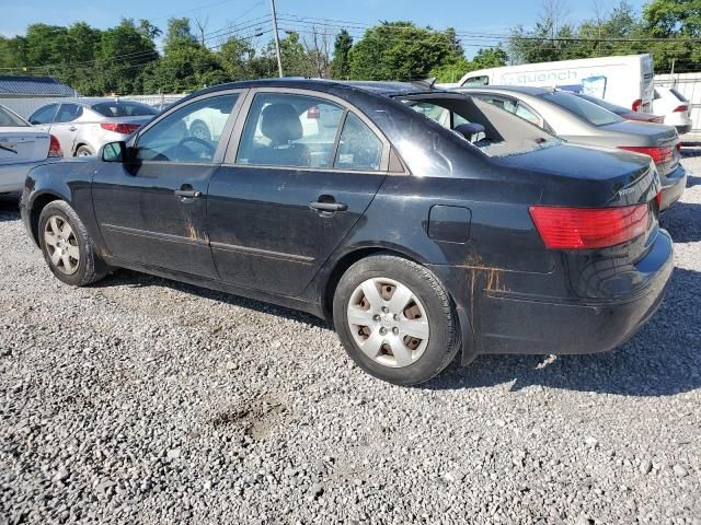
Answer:
[[[384,366],[409,366],[428,345],[424,305],[409,287],[393,279],[361,282],[348,301],[347,319],[358,348]]]

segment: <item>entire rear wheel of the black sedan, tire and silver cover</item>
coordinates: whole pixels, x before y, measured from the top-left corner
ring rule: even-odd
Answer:
[[[346,270],[334,293],[333,320],[350,359],[395,385],[430,380],[460,348],[457,314],[438,279],[393,255],[374,255]]]

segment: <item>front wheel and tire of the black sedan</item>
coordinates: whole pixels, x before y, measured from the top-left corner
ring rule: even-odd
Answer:
[[[55,200],[42,210],[38,237],[46,264],[66,284],[84,287],[110,272],[95,253],[85,225],[66,201]]]

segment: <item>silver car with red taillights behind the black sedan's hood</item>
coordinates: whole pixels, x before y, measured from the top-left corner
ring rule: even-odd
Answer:
[[[55,136],[66,156],[91,156],[107,142],[125,140],[158,113],[138,102],[79,98],[42,106],[28,120]]]

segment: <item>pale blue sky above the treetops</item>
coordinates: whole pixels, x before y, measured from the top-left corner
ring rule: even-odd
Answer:
[[[567,20],[577,23],[593,18],[595,8],[606,11],[618,0],[561,0],[567,8]],[[271,33],[255,37],[256,33],[269,30],[269,0],[0,0],[11,4],[0,19],[0,34],[13,36],[24,33],[32,23],[69,25],[78,21],[105,28],[116,25],[119,19],[148,19],[152,24],[165,28],[171,16],[198,16],[206,22],[206,34],[216,44],[217,32],[230,24],[240,24],[240,34],[250,36],[256,44],[265,44]],[[635,9],[641,9],[643,0],[630,0]],[[541,0],[276,0],[281,30],[301,30],[301,35],[310,35],[313,19],[326,19],[327,30],[336,32],[342,22],[356,24],[352,34],[358,36],[366,25],[383,20],[409,20],[418,25],[434,28],[455,27],[459,33],[507,34],[510,27],[521,24],[529,27],[541,11]],[[304,22],[290,21],[290,15]],[[256,20],[258,19],[258,20]],[[287,20],[285,20],[287,19]],[[320,21],[315,21],[319,23]],[[333,24],[333,25],[332,25]],[[284,36],[284,33],[283,33]],[[462,42],[468,56],[472,56],[481,45],[496,45],[498,37],[463,35]]]

